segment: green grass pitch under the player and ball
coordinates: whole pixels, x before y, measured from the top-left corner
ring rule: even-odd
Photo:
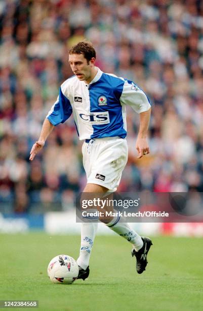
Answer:
[[[38,300],[40,310],[202,310],[202,239],[152,241],[149,264],[139,275],[130,243],[116,235],[97,236],[89,278],[55,285],[47,276],[48,263],[59,254],[76,259],[79,236],[1,234],[0,300]]]

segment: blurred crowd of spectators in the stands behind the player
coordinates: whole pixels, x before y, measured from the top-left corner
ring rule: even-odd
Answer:
[[[128,109],[129,161],[120,192],[203,192],[203,2],[0,2],[0,211],[74,206],[86,176],[71,117],[33,162],[29,152],[85,38],[104,72],[133,80],[152,104],[150,154],[138,160],[139,115]]]

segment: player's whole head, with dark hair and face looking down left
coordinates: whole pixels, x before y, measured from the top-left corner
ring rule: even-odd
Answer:
[[[90,41],[81,41],[69,51],[69,64],[80,81],[91,81],[94,75],[96,51]]]

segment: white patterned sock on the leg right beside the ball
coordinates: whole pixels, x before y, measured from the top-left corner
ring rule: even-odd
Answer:
[[[77,264],[86,270],[89,266],[91,250],[97,233],[98,223],[81,224],[81,246]]]

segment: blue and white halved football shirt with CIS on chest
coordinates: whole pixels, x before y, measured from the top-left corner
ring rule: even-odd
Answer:
[[[73,113],[80,140],[127,135],[126,105],[137,113],[149,110],[145,93],[132,81],[103,73],[100,69],[88,85],[76,76],[60,87],[47,118],[54,125]]]

